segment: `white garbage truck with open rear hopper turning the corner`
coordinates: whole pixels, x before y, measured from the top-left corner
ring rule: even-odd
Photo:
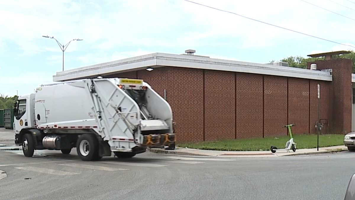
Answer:
[[[168,102],[141,79],[88,78],[40,85],[15,105],[15,143],[24,156],[35,149],[82,160],[130,158],[148,148],[175,148]]]

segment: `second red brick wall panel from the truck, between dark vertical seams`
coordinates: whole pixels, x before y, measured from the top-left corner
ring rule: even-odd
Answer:
[[[235,74],[204,70],[205,140],[235,138]]]

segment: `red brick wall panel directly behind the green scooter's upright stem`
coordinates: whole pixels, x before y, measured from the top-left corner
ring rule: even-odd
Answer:
[[[288,124],[293,133],[309,132],[309,80],[288,78]]]

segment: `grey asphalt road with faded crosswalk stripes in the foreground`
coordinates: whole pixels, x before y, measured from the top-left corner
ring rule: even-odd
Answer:
[[[355,153],[211,158],[146,152],[84,162],[60,151],[0,151],[0,199],[344,199]],[[16,154],[18,153],[18,154]]]

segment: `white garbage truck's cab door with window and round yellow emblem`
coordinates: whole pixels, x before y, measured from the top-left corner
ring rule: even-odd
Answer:
[[[19,133],[23,128],[28,127],[28,116],[26,112],[27,108],[27,98],[19,99],[17,101],[17,107],[15,109],[15,120],[14,120],[14,128],[15,132]]]

